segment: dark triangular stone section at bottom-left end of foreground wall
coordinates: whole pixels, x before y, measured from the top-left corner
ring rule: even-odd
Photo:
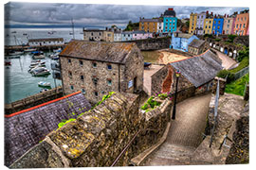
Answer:
[[[50,144],[42,142],[32,147],[27,154],[12,163],[9,168],[50,168],[64,167],[61,157]]]

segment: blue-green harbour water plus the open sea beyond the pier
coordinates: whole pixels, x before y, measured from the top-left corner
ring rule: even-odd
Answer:
[[[49,34],[48,32],[54,32]],[[5,29],[5,45],[20,45],[27,43],[28,39],[44,39],[44,38],[64,38],[64,42],[69,42],[73,39],[70,35],[71,28],[10,28]],[[12,32],[12,33],[11,33]],[[75,28],[75,39],[82,40],[82,28]],[[51,83],[51,88],[62,85],[61,80],[52,77],[52,70],[50,63],[54,60],[48,58],[52,51],[44,51],[46,59],[46,68],[50,70],[49,76],[31,76],[27,72],[32,59],[32,55],[25,53],[18,59],[9,59],[10,66],[5,66],[5,103],[10,103],[29,95],[40,93],[42,88],[38,87],[39,81],[46,81]],[[7,58],[8,56],[5,56]]]

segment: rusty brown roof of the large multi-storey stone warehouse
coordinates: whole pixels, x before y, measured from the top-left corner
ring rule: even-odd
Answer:
[[[72,40],[59,55],[60,57],[98,60],[124,64],[135,42],[86,42]]]

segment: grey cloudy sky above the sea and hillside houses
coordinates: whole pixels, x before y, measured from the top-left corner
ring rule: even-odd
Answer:
[[[209,10],[217,14],[232,14],[245,8],[192,7],[192,6],[133,6],[66,3],[22,3],[5,5],[6,26],[75,26],[99,27],[116,25],[124,28],[139,17],[159,17],[167,8],[174,8],[176,17],[189,18],[191,12]]]

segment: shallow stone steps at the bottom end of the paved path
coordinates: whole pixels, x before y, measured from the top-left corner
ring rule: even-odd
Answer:
[[[170,166],[191,164],[191,156],[195,147],[178,144],[163,144],[152,154],[143,166]]]

